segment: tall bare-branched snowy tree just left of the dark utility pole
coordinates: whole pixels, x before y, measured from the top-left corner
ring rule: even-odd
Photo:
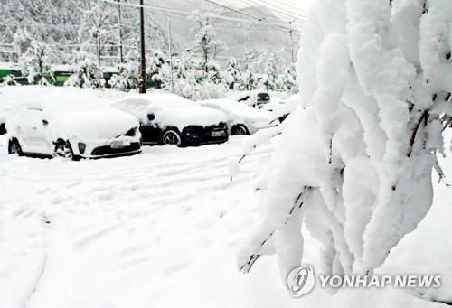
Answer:
[[[95,1],[84,10],[79,28],[80,42],[93,44],[100,64],[102,52],[108,42],[118,42],[116,11],[110,4]]]

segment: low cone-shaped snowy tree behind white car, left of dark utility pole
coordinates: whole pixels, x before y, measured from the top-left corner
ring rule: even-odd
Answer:
[[[70,78],[66,81],[66,86],[79,88],[103,88],[105,79],[100,69],[96,56],[87,51],[78,51],[71,60]]]

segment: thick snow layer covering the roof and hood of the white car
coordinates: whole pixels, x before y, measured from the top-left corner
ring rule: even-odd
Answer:
[[[7,87],[1,97],[5,106],[10,106],[11,109],[22,106],[6,122],[9,135],[17,135],[15,129],[27,125],[24,108],[42,110],[42,120],[49,123],[45,134],[52,141],[74,137],[86,141],[114,138],[138,126],[135,117],[110,107],[106,99],[99,98],[90,91]]]

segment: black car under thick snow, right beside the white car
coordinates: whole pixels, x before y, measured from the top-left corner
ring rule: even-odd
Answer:
[[[144,145],[197,146],[228,141],[225,115],[167,93],[132,95],[112,103],[137,117]]]

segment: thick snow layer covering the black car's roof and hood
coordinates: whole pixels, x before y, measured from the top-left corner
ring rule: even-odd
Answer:
[[[226,122],[226,117],[221,111],[212,108],[201,107],[195,102],[166,93],[149,93],[145,95],[131,95],[119,99],[111,104],[120,110],[124,110],[144,124],[150,123],[148,115],[154,114],[152,123],[165,129],[167,126],[175,126],[182,130],[185,126],[216,126]]]

